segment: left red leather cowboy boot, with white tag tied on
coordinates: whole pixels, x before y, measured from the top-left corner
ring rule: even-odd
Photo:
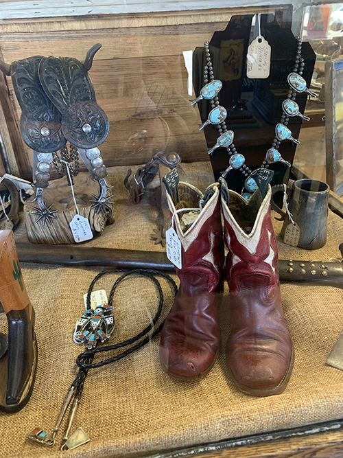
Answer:
[[[177,190],[178,202],[169,194],[167,200],[181,242],[182,268],[176,268],[180,287],[163,326],[159,353],[167,374],[188,379],[206,374],[219,349],[217,305],[222,295],[224,243],[219,183],[205,193],[206,204],[190,227],[187,221],[184,225],[187,212],[174,212],[185,207],[199,209],[202,195],[186,183],[179,183]]]

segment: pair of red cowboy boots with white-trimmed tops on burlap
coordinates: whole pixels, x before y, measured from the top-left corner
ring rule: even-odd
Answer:
[[[250,396],[279,394],[289,380],[294,354],[281,304],[271,188],[258,189],[246,201],[220,181],[204,196],[186,183],[176,187],[175,180],[174,189],[168,189],[165,181],[182,267],[176,268],[180,288],[161,334],[161,365],[170,376],[183,379],[202,376],[213,366],[220,347],[217,306],[224,239],[230,290],[228,371]]]

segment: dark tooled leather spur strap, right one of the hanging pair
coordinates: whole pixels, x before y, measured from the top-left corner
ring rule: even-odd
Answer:
[[[62,130],[71,144],[90,149],[105,141],[109,122],[97,104],[91,78],[75,58],[43,58],[38,68],[40,83],[62,113]]]

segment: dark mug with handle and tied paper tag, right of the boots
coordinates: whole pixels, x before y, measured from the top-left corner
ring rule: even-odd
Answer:
[[[283,185],[272,187],[272,209],[283,220],[280,236],[286,244],[305,250],[316,250],[327,242],[327,215],[329,185],[322,181],[303,179],[287,187],[287,209],[283,211],[274,202],[274,194],[283,191]]]

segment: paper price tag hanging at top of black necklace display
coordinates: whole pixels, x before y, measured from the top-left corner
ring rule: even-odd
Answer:
[[[246,55],[246,76],[268,78],[270,73],[270,44],[261,35],[261,14],[257,15],[259,35],[253,40]]]

